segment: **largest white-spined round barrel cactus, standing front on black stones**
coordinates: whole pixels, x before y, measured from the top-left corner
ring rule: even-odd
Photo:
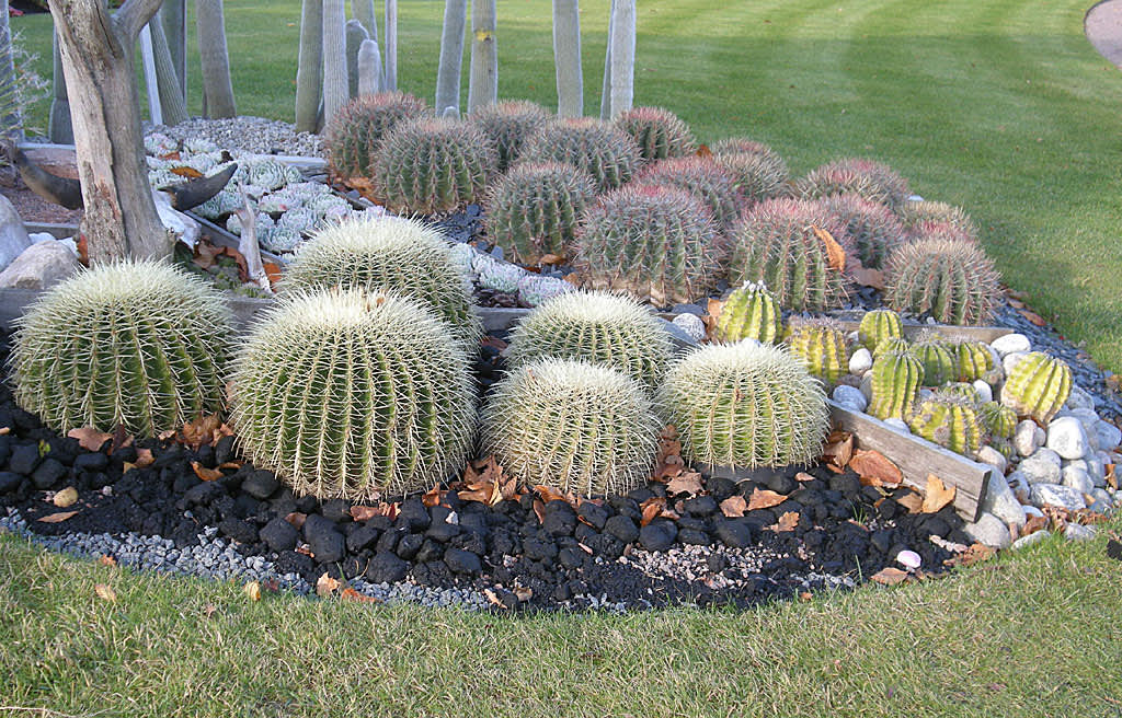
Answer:
[[[297,495],[370,501],[430,488],[475,438],[468,355],[424,305],[361,290],[295,292],[234,362],[246,457]]]

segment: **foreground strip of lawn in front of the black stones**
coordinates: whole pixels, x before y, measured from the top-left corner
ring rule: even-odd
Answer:
[[[1104,543],[1049,539],[926,585],[739,614],[521,617],[255,604],[239,585],[134,575],[7,538],[0,705],[164,717],[1113,717],[1122,565]]]

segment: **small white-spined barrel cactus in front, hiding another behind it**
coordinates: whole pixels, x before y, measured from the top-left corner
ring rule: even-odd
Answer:
[[[495,384],[482,445],[528,485],[623,495],[645,484],[662,422],[643,386],[608,366],[540,358]]]

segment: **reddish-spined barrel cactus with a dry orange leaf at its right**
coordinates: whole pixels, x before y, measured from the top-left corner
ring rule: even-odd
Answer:
[[[845,297],[842,269],[822,232],[842,236],[817,202],[775,198],[753,206],[729,232],[729,282],[763,281],[782,306],[795,311],[839,306]]]

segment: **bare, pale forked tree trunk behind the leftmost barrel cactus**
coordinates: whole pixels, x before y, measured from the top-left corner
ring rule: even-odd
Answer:
[[[173,239],[156,214],[144,162],[134,50],[160,0],[49,0],[66,85],[91,262],[166,257]]]

